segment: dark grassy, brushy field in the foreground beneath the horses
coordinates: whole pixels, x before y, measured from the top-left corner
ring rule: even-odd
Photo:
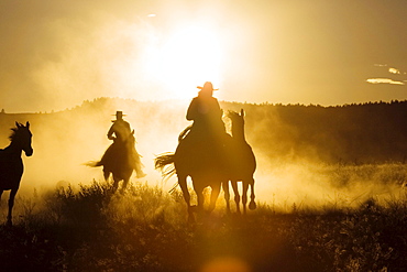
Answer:
[[[396,179],[398,194],[352,207],[260,203],[246,216],[228,215],[220,198],[188,224],[179,191],[146,183],[123,195],[96,181],[34,192],[16,199],[14,226],[0,226],[0,271],[406,271],[405,166],[363,167],[329,172],[338,186]]]

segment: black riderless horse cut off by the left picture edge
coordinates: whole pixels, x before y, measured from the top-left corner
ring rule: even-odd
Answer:
[[[9,197],[9,214],[7,216],[7,225],[12,225],[12,209],[14,206],[15,194],[20,187],[21,176],[23,175],[24,165],[21,159],[21,151],[25,152],[26,156],[33,154],[31,146],[32,133],[30,131],[30,122],[21,124],[15,122],[16,128],[10,135],[11,143],[3,150],[0,150],[0,198],[3,191],[10,189]]]

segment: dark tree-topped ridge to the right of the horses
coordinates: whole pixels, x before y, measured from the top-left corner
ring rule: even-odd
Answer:
[[[246,133],[273,159],[346,164],[407,160],[407,101],[242,106]]]

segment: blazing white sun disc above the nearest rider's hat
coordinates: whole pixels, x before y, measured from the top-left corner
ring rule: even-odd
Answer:
[[[219,85],[222,68],[222,44],[212,30],[190,25],[173,32],[165,41],[148,45],[148,77],[165,84],[173,98],[196,95],[191,86],[212,81]]]

